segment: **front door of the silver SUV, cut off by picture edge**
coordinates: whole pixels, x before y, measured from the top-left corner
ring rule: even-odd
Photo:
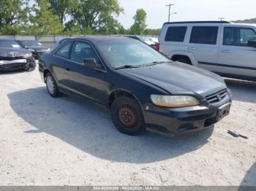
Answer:
[[[247,46],[249,40],[256,40],[254,28],[223,27],[219,48],[220,74],[245,79],[256,77],[256,48]]]

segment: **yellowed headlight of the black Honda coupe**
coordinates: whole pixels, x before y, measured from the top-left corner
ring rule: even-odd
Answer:
[[[198,106],[196,98],[189,95],[151,95],[151,101],[157,106],[183,107]]]

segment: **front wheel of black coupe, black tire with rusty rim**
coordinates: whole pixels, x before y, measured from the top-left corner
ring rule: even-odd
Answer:
[[[145,122],[140,105],[133,98],[118,97],[111,106],[113,124],[129,136],[137,136],[145,130]]]

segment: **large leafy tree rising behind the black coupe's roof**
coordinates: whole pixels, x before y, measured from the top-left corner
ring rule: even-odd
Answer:
[[[78,25],[80,31],[85,28],[92,30],[113,30],[118,28],[115,16],[118,16],[123,9],[117,0],[73,0],[70,5],[70,23]]]

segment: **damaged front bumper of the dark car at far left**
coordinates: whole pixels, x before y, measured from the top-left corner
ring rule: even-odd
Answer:
[[[36,67],[34,58],[19,58],[0,61],[0,71],[33,70]]]

